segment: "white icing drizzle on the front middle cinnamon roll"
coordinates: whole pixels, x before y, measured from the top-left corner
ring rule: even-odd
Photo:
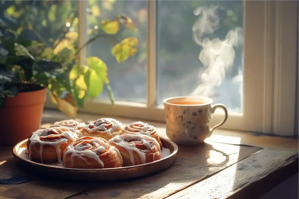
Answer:
[[[80,143],[78,143],[78,142],[80,142]],[[83,143],[85,143],[85,144],[83,144]],[[93,143],[96,146],[95,149],[85,150],[85,149],[92,148],[91,143]],[[89,157],[89,158],[96,160],[104,168],[104,163],[100,160],[99,156],[95,152],[98,151],[100,153],[103,153],[105,151],[105,149],[108,148],[108,146],[109,146],[108,142],[105,142],[99,138],[94,138],[91,140],[85,140],[85,139],[80,140],[79,139],[79,140],[77,140],[77,142],[74,142],[67,147],[67,149],[63,155],[63,158],[65,158],[66,155],[71,154],[71,165],[73,167],[75,157],[85,159],[84,158],[84,156],[85,156],[85,157]],[[112,149],[114,149],[118,153],[118,155],[121,157],[118,149],[116,149],[113,146],[110,146],[110,147],[112,147]],[[86,159],[85,159],[85,161],[86,161],[86,163],[90,164]]]

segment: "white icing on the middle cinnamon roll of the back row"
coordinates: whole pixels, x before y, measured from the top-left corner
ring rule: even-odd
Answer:
[[[109,135],[112,135],[113,132],[117,132],[122,129],[122,124],[113,118],[100,118],[96,121],[97,122],[95,124],[91,122],[90,124],[85,125],[83,129],[86,129],[89,133],[92,133],[94,131],[100,131]],[[112,127],[107,129],[106,123],[111,123]],[[89,126],[92,126],[92,128],[89,128]]]

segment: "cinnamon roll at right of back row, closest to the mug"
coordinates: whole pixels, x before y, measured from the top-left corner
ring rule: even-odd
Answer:
[[[132,124],[127,125],[126,127],[123,128],[123,131],[120,134],[136,134],[136,133],[141,133],[150,136],[152,138],[155,138],[160,144],[160,147],[162,147],[162,143],[156,128],[149,124],[143,123],[141,121],[134,122]]]

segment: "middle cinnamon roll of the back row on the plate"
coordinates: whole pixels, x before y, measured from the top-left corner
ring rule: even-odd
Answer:
[[[107,141],[118,135],[122,130],[122,125],[119,121],[112,118],[100,118],[83,127],[82,133],[84,136],[100,137]]]

